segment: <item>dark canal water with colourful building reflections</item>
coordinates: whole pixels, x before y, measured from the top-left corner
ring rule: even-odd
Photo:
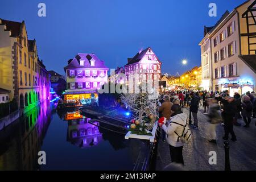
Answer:
[[[46,101],[0,131],[0,170],[142,170],[150,143]],[[38,152],[46,164],[38,164]]]

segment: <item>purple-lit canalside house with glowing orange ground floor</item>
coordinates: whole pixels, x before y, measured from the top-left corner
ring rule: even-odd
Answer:
[[[79,53],[64,67],[67,90],[64,102],[90,104],[92,97],[98,98],[97,90],[108,82],[108,70],[104,61],[93,53]]]

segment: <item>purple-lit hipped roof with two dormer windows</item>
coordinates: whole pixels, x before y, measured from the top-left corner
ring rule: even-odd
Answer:
[[[95,60],[95,66],[92,67],[90,65],[91,60]],[[80,65],[80,60],[84,60],[84,66]],[[76,55],[76,57],[71,61],[68,60],[67,67],[64,67],[64,69],[68,68],[103,68],[108,69],[108,67],[105,66],[104,61],[98,59],[96,55],[93,53],[79,53]]]

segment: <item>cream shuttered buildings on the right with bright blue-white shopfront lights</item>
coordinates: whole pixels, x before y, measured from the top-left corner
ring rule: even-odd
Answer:
[[[256,35],[256,12],[253,11],[250,20],[246,15],[251,9],[255,9],[255,1],[246,1],[236,7],[231,13],[226,11],[214,27],[208,27],[204,39],[200,43],[202,57],[203,86],[208,90],[208,83],[205,81],[205,57],[210,52],[209,68],[209,90],[229,90],[233,96],[235,92],[243,94],[247,91],[253,91],[256,75],[253,63],[246,64],[241,59],[241,55],[255,55],[253,47],[256,45],[256,39],[251,38]],[[244,16],[244,17],[243,17]],[[254,26],[250,25],[253,23]],[[250,24],[250,25],[249,25]],[[249,31],[249,32],[248,32]],[[247,40],[250,39],[250,42]],[[205,43],[207,42],[207,43]],[[205,45],[210,42],[209,46]],[[256,48],[255,48],[256,49]]]

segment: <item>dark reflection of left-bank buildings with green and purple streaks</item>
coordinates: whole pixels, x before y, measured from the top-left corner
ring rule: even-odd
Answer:
[[[43,102],[24,118],[0,131],[0,170],[38,168],[38,151],[51,122],[53,109],[49,102]]]

